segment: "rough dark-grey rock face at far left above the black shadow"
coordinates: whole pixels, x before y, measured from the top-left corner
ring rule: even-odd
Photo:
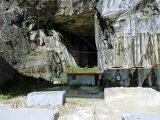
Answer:
[[[0,10],[4,10],[0,14],[0,56],[18,69],[29,46],[18,25],[21,11],[17,6],[8,4],[0,4]]]

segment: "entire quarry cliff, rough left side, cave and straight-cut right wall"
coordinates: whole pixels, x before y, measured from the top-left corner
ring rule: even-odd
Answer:
[[[120,85],[159,86],[159,3],[2,0],[0,56],[18,72],[49,81],[57,68],[94,66],[98,56],[101,70]]]

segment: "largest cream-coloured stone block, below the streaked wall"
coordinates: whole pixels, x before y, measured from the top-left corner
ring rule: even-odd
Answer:
[[[160,112],[160,92],[152,88],[106,88],[104,98],[110,109]]]

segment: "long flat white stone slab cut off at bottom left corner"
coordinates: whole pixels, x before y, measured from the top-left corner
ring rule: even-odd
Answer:
[[[45,108],[0,107],[0,120],[56,120],[57,118],[57,111]]]

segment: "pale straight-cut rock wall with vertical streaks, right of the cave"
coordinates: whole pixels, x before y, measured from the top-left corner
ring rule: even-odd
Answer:
[[[141,81],[138,85],[142,86],[144,78],[150,79],[149,76],[158,81],[158,76],[155,76],[154,72],[151,73],[152,69],[148,72],[147,70],[157,66],[160,61],[159,7],[158,0],[99,1],[95,17],[95,36],[98,64],[102,70],[128,69],[126,74],[130,77],[120,76],[129,81],[134,79],[133,67],[138,73],[143,67],[147,67],[143,70],[146,73],[136,75],[136,78]]]

